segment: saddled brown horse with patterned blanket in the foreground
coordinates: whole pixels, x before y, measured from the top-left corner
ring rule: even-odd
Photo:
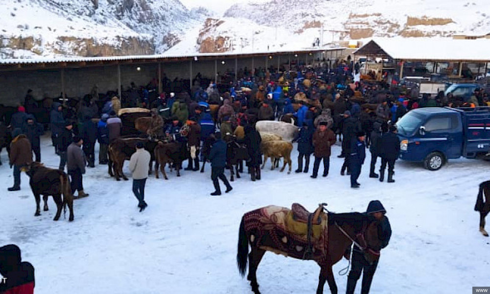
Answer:
[[[297,204],[294,205],[297,207]],[[377,233],[378,221],[374,218],[361,213],[327,215],[321,212],[318,222],[315,221],[311,226],[313,229],[310,230],[308,226],[308,233],[305,232],[301,236],[297,232],[298,224],[301,225],[301,222],[291,221],[292,215],[293,219],[297,217],[294,205],[293,210],[271,205],[247,212],[242,218],[238,239],[238,269],[242,276],[245,276],[248,254],[247,279],[255,294],[260,294],[256,272],[266,251],[316,261],[320,266],[317,294],[323,294],[325,281],[328,281],[331,293],[337,294],[332,266],[342,259],[353,242],[363,248],[369,262],[379,258],[381,242]],[[323,207],[320,206],[319,209]],[[310,216],[306,217],[309,222],[315,219],[317,213],[318,210],[315,214],[309,214],[304,210],[303,215]],[[305,217],[301,219],[305,220]],[[304,222],[302,225],[305,230]],[[311,239],[314,239],[313,245],[310,243]],[[250,253],[248,245],[251,247]]]

